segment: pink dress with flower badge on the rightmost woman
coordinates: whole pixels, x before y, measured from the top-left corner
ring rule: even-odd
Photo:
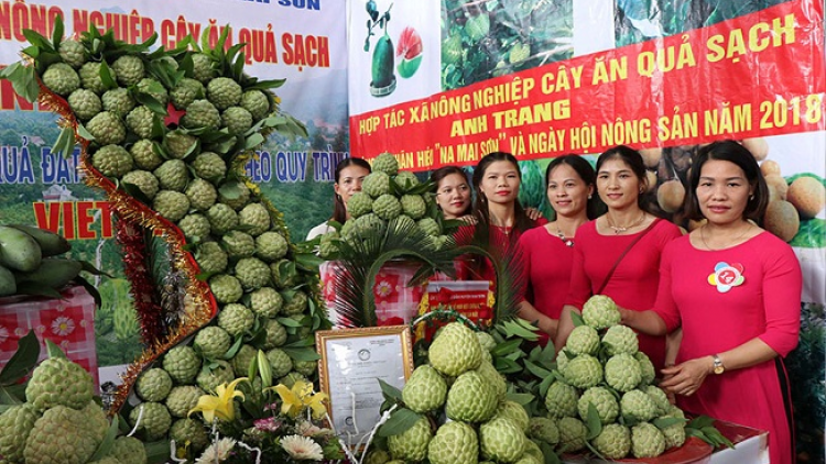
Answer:
[[[797,345],[801,267],[792,248],[771,233],[720,251],[697,250],[684,236],[665,248],[661,274],[655,311],[669,331],[683,327],[677,362],[754,338],[781,357]],[[771,463],[791,464],[783,399],[775,360],[710,374],[696,394],[678,397],[688,411],[768,430]]]

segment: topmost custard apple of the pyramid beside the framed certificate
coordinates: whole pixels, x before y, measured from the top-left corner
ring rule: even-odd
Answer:
[[[479,367],[481,344],[474,331],[459,322],[452,322],[431,344],[427,357],[433,368],[444,375],[456,377]]]

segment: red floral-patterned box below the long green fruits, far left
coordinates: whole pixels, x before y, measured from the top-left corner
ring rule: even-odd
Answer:
[[[44,340],[51,340],[69,360],[91,374],[97,389],[95,299],[81,286],[68,287],[61,295],[63,299],[0,298],[0,365],[4,365],[18,350],[18,341],[34,329],[41,342],[41,360],[48,356]]]

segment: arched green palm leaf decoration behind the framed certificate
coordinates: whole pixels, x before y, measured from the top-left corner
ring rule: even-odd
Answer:
[[[470,229],[470,231],[465,231]],[[466,243],[461,246],[458,243]],[[454,261],[461,255],[478,255],[489,259],[496,270],[496,303],[493,323],[512,319],[523,288],[523,259],[508,243],[482,244],[472,239],[472,228],[460,228],[446,245],[437,245],[412,221],[392,220],[387,228],[339,243],[340,272],[334,284],[336,309],[341,324],[349,328],[376,327],[376,276],[388,262],[405,259],[420,264],[409,286],[425,281],[441,272],[455,277]]]

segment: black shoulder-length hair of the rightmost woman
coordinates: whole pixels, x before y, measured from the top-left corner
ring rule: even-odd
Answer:
[[[683,209],[687,219],[698,221],[704,218],[697,200],[697,186],[703,165],[710,161],[724,161],[736,164],[746,175],[746,180],[754,189],[749,196],[749,201],[743,210],[743,218],[751,219],[760,224],[769,206],[769,187],[765,185],[763,174],[757,164],[754,156],[745,146],[732,140],[724,140],[710,143],[697,152],[692,163],[692,177],[688,179],[688,190],[685,192]]]

